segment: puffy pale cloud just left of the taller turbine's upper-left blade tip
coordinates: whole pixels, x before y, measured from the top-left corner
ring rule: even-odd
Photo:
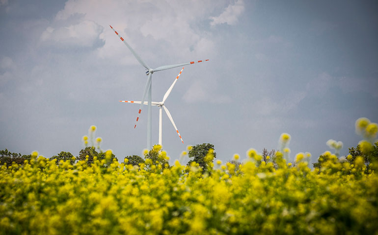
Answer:
[[[93,21],[84,20],[78,24],[60,27],[47,27],[41,34],[41,41],[68,47],[94,47],[102,40],[99,38],[103,27]]]

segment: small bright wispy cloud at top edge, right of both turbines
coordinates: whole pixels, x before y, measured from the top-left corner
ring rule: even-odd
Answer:
[[[209,17],[212,22],[211,25],[216,24],[229,24],[235,25],[238,23],[238,17],[244,12],[243,0],[237,0],[234,5],[230,4],[224,11],[217,17]]]

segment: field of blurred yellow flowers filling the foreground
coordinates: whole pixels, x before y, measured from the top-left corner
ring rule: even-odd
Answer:
[[[282,136],[285,141],[285,135]],[[330,152],[276,165],[253,149],[244,164],[70,164],[37,154],[0,166],[1,234],[378,234],[378,175]],[[164,156],[162,156],[164,157]],[[237,156],[236,158],[238,158]]]

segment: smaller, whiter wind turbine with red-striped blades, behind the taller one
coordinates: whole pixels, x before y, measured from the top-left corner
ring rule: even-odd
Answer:
[[[181,69],[179,75],[177,75],[175,81],[172,83],[172,85],[168,88],[166,93],[163,96],[162,102],[151,102],[151,105],[158,106],[159,109],[159,145],[162,146],[162,109],[164,109],[165,114],[168,116],[169,120],[172,122],[173,127],[175,128],[177,134],[180,137],[180,140],[184,143],[183,138],[181,138],[179,130],[177,130],[177,127],[175,125],[175,122],[173,121],[173,118],[171,114],[169,113],[168,109],[165,107],[164,102],[168,98],[168,95],[171,93],[173,86],[176,84],[177,80],[180,77],[181,72],[184,70],[184,67]],[[142,104],[141,101],[130,101],[130,100],[120,100],[119,102],[126,102],[126,103],[134,103],[134,104]],[[148,103],[146,101],[143,102],[144,105],[147,105]]]

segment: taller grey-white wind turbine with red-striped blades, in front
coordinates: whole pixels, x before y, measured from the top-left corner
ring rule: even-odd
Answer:
[[[140,101],[139,111],[138,111],[138,115],[136,117],[134,129],[136,128],[136,123],[139,119],[140,112],[142,112],[142,105],[144,104],[146,94],[148,93],[148,96],[147,96],[147,149],[151,149],[151,118],[152,118],[151,117],[151,102],[152,102],[151,101],[151,93],[152,93],[152,91],[151,91],[152,90],[151,78],[152,78],[152,73],[154,73],[156,71],[169,70],[169,69],[173,69],[173,68],[181,67],[181,66],[185,66],[185,65],[191,65],[191,64],[194,64],[194,63],[200,63],[200,62],[203,62],[203,60],[191,61],[191,62],[188,62],[188,63],[181,63],[181,64],[176,64],[176,65],[164,65],[164,66],[157,67],[156,69],[151,69],[140,58],[140,56],[138,54],[136,54],[134,49],[132,47],[130,47],[130,45],[121,37],[121,35],[119,35],[119,33],[117,31],[115,31],[115,29],[111,25],[109,25],[109,26],[110,26],[111,29],[113,29],[115,34],[118,35],[119,39],[121,39],[121,41],[126,45],[126,47],[129,48],[131,53],[133,53],[135,59],[139,62],[139,64],[141,64],[146,69],[146,75],[148,75],[148,78],[147,78],[146,86],[144,88],[142,101]],[[208,60],[204,60],[204,61],[208,61]]]

